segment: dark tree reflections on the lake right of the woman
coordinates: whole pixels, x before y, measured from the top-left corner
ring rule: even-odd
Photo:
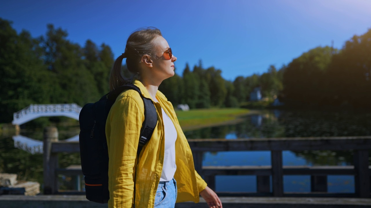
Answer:
[[[371,135],[371,113],[260,111],[239,124],[184,132],[187,138],[274,138]],[[295,151],[311,165],[352,165],[352,151]]]

